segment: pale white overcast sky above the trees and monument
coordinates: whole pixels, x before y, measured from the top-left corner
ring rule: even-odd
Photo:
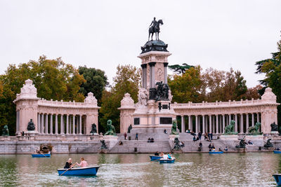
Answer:
[[[258,84],[254,63],[281,39],[281,1],[13,1],[0,0],[0,74],[8,64],[62,57],[102,69],[112,83],[118,64],[140,67],[153,17],[168,43],[169,64],[242,72]]]

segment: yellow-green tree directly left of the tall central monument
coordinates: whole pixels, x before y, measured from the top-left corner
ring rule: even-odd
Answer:
[[[105,130],[107,120],[111,119],[117,132],[120,130],[120,111],[121,100],[128,92],[134,102],[138,101],[138,87],[141,85],[141,69],[131,65],[119,65],[117,74],[113,78],[113,85],[110,91],[104,90],[102,104],[100,107],[100,125]]]

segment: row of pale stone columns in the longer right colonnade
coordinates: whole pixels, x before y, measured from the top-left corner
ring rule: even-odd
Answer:
[[[261,122],[261,113],[229,113],[206,115],[181,115],[181,132],[211,132],[224,134],[226,125],[235,120],[235,132],[247,133],[249,127]]]

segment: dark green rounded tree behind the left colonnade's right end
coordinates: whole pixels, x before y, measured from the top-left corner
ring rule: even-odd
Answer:
[[[105,86],[108,85],[105,71],[84,66],[79,67],[79,74],[83,75],[86,80],[86,82],[80,85],[79,92],[84,96],[89,92],[93,92],[93,95],[98,99],[98,105],[100,106],[103,90],[105,90]]]

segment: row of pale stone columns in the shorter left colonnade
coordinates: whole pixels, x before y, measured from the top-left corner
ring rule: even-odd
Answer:
[[[39,134],[86,134],[86,116],[81,114],[38,113]]]

